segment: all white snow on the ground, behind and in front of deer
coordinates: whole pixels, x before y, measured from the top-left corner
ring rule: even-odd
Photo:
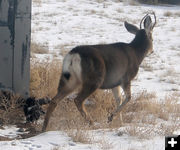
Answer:
[[[145,90],[155,93],[160,102],[171,95],[180,103],[180,6],[118,0],[34,0],[32,42],[49,49],[45,57],[60,60],[77,45],[130,42],[134,35],[126,31],[124,21],[139,27],[141,18],[149,11],[157,16],[154,53],[141,64],[132,82],[132,95]],[[44,58],[42,54],[35,56]],[[154,131],[157,134],[147,139],[125,134],[123,129],[86,131],[92,137],[86,144],[74,142],[63,131],[49,131],[28,139],[0,141],[0,150],[163,150],[165,147],[165,137],[158,134],[160,131]],[[148,126],[147,130],[153,127]],[[14,126],[0,129],[0,136],[14,138],[18,134]],[[174,134],[180,134],[180,128]]]

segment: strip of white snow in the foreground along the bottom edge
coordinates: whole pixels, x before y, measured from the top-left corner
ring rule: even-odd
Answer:
[[[118,136],[116,132],[106,130],[90,131],[94,136],[93,144],[73,142],[72,138],[61,131],[49,131],[35,137],[21,140],[2,141],[0,150],[162,150],[164,137],[155,137],[150,140],[137,139],[128,135]],[[8,133],[7,133],[8,134]]]

